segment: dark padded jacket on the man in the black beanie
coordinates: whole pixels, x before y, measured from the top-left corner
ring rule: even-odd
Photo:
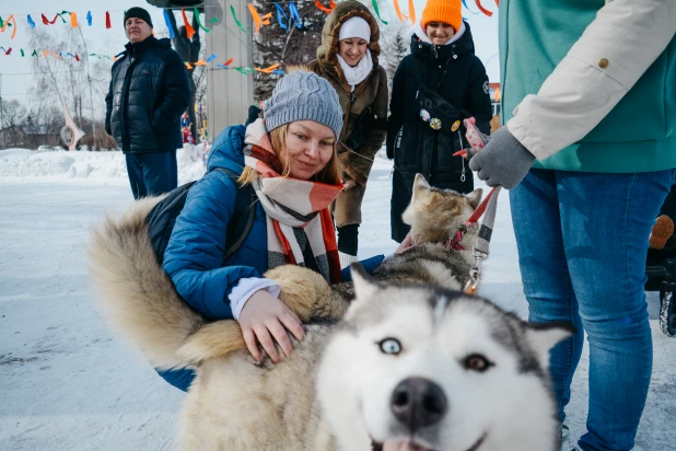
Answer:
[[[163,152],[183,144],[180,115],[190,88],[170,39],[127,43],[113,65],[106,95],[106,132],[124,152]]]

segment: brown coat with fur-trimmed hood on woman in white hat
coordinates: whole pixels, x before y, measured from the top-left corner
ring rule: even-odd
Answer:
[[[354,92],[350,92],[351,88],[338,63],[338,35],[340,25],[354,16],[363,18],[371,25],[368,48],[373,59],[373,70],[354,88]],[[369,173],[387,134],[387,74],[377,63],[381,54],[378,39],[378,26],[366,7],[354,0],[343,1],[327,18],[317,59],[310,63],[310,69],[328,80],[340,99],[343,126],[338,154],[342,163],[342,178],[343,182],[357,183],[356,187],[341,193],[336,199],[334,213],[337,227],[361,223],[361,203]],[[357,135],[360,137],[357,138]],[[353,140],[361,142],[353,147]]]

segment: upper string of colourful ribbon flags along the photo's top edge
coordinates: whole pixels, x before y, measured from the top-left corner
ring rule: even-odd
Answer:
[[[298,1],[298,0],[296,0]],[[312,1],[312,0],[311,0]],[[325,5],[323,2],[326,0],[314,0],[314,4],[315,7],[325,12],[326,14],[330,14],[331,11],[334,10],[334,8],[336,8],[336,1],[335,0],[328,0],[328,7]],[[371,0],[372,1],[372,5],[373,5],[373,10],[375,11],[375,15],[377,16],[377,19],[384,24],[387,25],[388,22],[385,21],[381,14],[381,10],[378,8],[378,1],[377,0]],[[397,15],[397,19],[399,19],[400,22],[405,23],[405,24],[415,24],[416,23],[416,9],[413,5],[413,0],[408,0],[408,15],[404,14],[404,12],[401,11],[401,8],[399,7],[399,0],[392,0],[394,3],[394,9],[395,9],[395,13]],[[494,0],[496,1],[496,5],[500,7],[500,0]],[[468,5],[467,5],[467,0],[462,0],[463,5],[465,7],[465,9],[467,11],[469,11],[471,14],[479,14],[479,12],[476,12],[474,10],[471,10]],[[287,4],[287,11],[284,11],[284,9],[281,7],[280,3],[285,3]],[[488,10],[487,8],[485,8],[481,4],[481,0],[475,0],[475,3],[478,8],[478,10],[487,15],[487,16],[492,16],[493,12]],[[279,24],[279,26],[289,32],[289,30],[292,26],[292,23],[295,24],[295,26],[298,28],[302,28],[303,27],[303,21],[301,19],[301,14],[299,13],[298,7],[295,5],[294,1],[288,1],[288,0],[280,0],[278,2],[273,2],[273,7],[275,9],[272,11],[269,11],[267,13],[261,14],[258,9],[254,5],[254,3],[247,3],[247,9],[249,14],[252,15],[252,19],[254,21],[254,30],[255,33],[260,32],[260,28],[265,25],[270,25],[271,24],[271,19],[275,15],[277,19],[277,23]],[[235,22],[235,25],[237,25],[237,27],[243,32],[243,33],[247,33],[246,28],[244,27],[244,25],[242,24],[242,21],[237,18],[237,14],[235,12],[235,9],[233,8],[233,5],[230,5],[230,13],[232,15],[233,21]],[[193,9],[193,14],[196,19],[197,25],[199,26],[200,30],[202,30],[205,33],[210,33],[211,30],[201,22],[201,18],[200,18],[200,13],[199,10],[197,8]],[[184,22],[184,25],[186,27],[187,34],[188,34],[188,38],[193,37],[193,35],[195,33],[197,33],[197,31],[193,27],[193,25],[188,22],[188,18],[186,15],[186,11],[184,8],[180,9],[180,15]],[[80,22],[78,21],[78,14],[73,11],[61,11],[58,12],[54,15],[53,19],[49,19],[50,15],[45,15],[44,13],[40,13],[40,19],[42,19],[42,23],[46,26],[49,25],[55,25],[57,23],[57,21],[60,19],[62,24],[70,24],[70,26],[72,27],[78,27],[80,26]],[[94,24],[94,16],[92,15],[91,11],[86,12],[86,26],[93,26]],[[170,32],[170,36],[173,38],[174,36],[174,30],[171,26],[171,22],[170,22],[170,18],[168,18],[168,12],[166,10],[164,10],[164,21],[166,23],[166,26],[168,28]],[[218,22],[219,19],[218,18],[213,18],[207,21],[207,24],[209,23],[215,23]],[[31,14],[27,14],[26,16],[26,22],[28,24],[28,26],[31,28],[35,28],[36,23],[33,20],[33,18],[31,16]],[[8,28],[12,28],[12,34],[11,34],[11,39],[14,38],[14,36],[16,35],[16,28],[18,28],[18,24],[16,24],[16,19],[14,18],[13,14],[11,14],[9,18],[4,19],[2,16],[0,16],[0,33],[4,33],[5,31],[8,31]],[[105,11],[105,27],[106,28],[112,28],[110,25],[110,12],[109,11]],[[8,54],[9,55],[9,54]]]

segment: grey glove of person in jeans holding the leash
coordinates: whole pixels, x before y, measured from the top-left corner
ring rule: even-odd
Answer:
[[[488,186],[502,185],[512,189],[526,176],[535,157],[501,127],[490,137],[483,149],[469,160],[469,169]]]

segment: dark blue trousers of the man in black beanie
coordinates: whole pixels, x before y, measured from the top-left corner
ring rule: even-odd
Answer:
[[[176,151],[126,153],[127,175],[135,199],[159,196],[178,186]]]

